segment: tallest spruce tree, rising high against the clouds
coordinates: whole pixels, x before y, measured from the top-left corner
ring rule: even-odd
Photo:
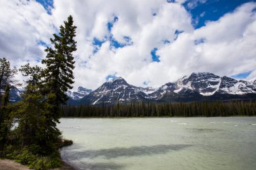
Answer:
[[[72,88],[74,83],[73,54],[76,48],[75,38],[76,26],[73,26],[73,17],[69,15],[64,26],[60,26],[59,35],[53,34],[51,43],[54,48],[46,48],[46,59],[42,60],[42,64],[46,64],[45,70],[45,87],[47,100],[53,104],[52,117],[55,122],[59,122],[61,116],[60,105],[65,104],[68,97],[65,95],[67,89]]]

